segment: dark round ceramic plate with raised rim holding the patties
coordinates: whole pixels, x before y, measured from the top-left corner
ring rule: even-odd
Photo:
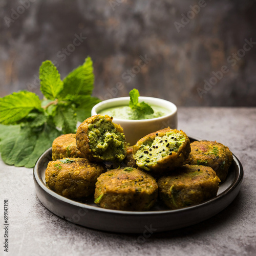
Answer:
[[[45,170],[51,160],[52,148],[49,148],[34,167],[36,194],[41,203],[55,215],[75,224],[112,232],[143,233],[147,229],[160,232],[204,221],[218,214],[234,200],[243,179],[243,167],[238,158],[233,156],[226,181],[220,184],[217,196],[206,202],[177,210],[167,209],[160,202],[150,211],[110,210],[98,207],[93,202],[93,196],[77,202],[49,189],[45,184]]]

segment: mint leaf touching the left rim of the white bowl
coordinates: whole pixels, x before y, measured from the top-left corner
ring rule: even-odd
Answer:
[[[77,120],[83,122],[88,117],[91,116],[91,111],[94,105],[99,103],[100,100],[96,97],[91,97],[89,95],[83,96],[79,99],[79,105],[75,109],[77,114]]]

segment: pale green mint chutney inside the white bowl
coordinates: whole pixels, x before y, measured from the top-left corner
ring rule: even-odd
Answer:
[[[151,107],[154,110],[154,113],[149,115],[138,115],[138,113],[132,110],[130,106],[114,106],[112,108],[103,109],[98,114],[108,115],[118,119],[140,120],[165,116],[170,113],[169,110],[164,109],[161,106],[151,105]]]

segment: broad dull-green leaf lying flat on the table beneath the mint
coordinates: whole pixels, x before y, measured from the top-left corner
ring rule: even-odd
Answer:
[[[49,125],[40,131],[20,125],[0,125],[0,152],[6,164],[33,167],[39,156],[51,147],[60,132]],[[8,135],[8,136],[7,136]]]

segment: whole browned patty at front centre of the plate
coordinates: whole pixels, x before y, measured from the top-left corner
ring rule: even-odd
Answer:
[[[99,176],[94,202],[107,209],[144,211],[155,204],[157,196],[157,182],[150,174],[126,167]]]

